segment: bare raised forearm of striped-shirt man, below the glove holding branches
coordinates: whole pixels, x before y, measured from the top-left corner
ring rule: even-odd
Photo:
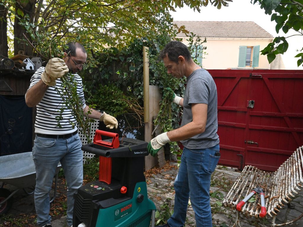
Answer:
[[[43,98],[48,86],[42,80],[38,81],[25,94],[25,103],[28,107],[36,106]]]

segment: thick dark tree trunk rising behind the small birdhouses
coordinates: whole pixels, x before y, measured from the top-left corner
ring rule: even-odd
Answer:
[[[24,16],[22,17],[22,19],[25,18],[25,15],[27,14],[29,16],[30,21],[28,21],[29,23],[33,23],[33,12],[35,9],[35,1],[28,1],[26,5],[16,5],[15,7],[15,13],[18,15],[18,9],[20,9],[23,13]],[[19,15],[20,16],[20,15]],[[21,17],[21,16],[20,16]],[[26,33],[26,30],[24,28],[24,26],[19,25],[19,19],[17,17],[15,17],[15,22],[14,22],[14,54],[17,55],[18,51],[24,51],[25,55],[28,56],[32,56],[33,55],[33,48],[30,44],[28,44],[28,41],[24,41],[24,36],[23,34],[26,35],[26,37],[28,38],[28,40],[32,43],[32,39],[30,38],[30,36]],[[18,38],[18,39],[16,39]],[[21,39],[21,40],[19,40]]]

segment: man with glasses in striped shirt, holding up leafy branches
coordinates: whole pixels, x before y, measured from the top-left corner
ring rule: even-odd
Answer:
[[[89,109],[85,104],[82,79],[77,72],[82,70],[87,54],[80,43],[71,42],[67,46],[64,60],[52,58],[46,67],[40,67],[32,76],[25,94],[28,107],[37,107],[36,137],[32,152],[36,168],[35,208],[37,224],[41,227],[51,227],[49,192],[58,163],[62,165],[67,183],[67,226],[72,226],[73,195],[83,182],[82,143],[75,126],[77,123],[75,116],[58,94],[62,88],[60,78],[68,71],[74,74],[79,102],[82,104],[85,116],[103,121],[109,129],[118,127],[115,117]],[[60,115],[58,110],[62,109],[64,109],[63,119],[58,122],[56,116]],[[58,123],[61,127],[58,127]]]

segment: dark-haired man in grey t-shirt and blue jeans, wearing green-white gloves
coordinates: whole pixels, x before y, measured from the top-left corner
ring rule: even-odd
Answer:
[[[185,44],[169,42],[160,57],[167,73],[176,78],[185,76],[187,85],[184,98],[173,94],[173,102],[183,107],[181,127],[162,133],[148,143],[148,152],[155,156],[166,143],[180,141],[184,146],[181,165],[175,179],[174,213],[162,227],[183,226],[188,199],[195,211],[197,227],[212,227],[210,207],[210,180],[219,153],[217,88],[208,71],[201,69],[191,59]]]

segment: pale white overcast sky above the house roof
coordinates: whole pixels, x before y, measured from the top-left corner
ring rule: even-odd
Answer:
[[[276,23],[271,21],[271,15],[266,15],[264,9],[261,9],[258,4],[253,5],[251,0],[233,0],[228,2],[228,7],[222,6],[217,9],[209,2],[208,6],[202,7],[200,13],[187,6],[176,8],[176,12],[171,12],[171,16],[175,21],[254,21],[256,24],[268,31],[272,36],[288,37],[295,34],[293,31],[288,31],[285,34],[282,29],[279,34],[275,31]],[[303,47],[303,36],[293,36],[287,39],[289,47],[288,51],[283,54],[282,59],[285,69],[300,69],[303,67],[297,66],[298,58],[294,58],[300,52],[296,50]]]

